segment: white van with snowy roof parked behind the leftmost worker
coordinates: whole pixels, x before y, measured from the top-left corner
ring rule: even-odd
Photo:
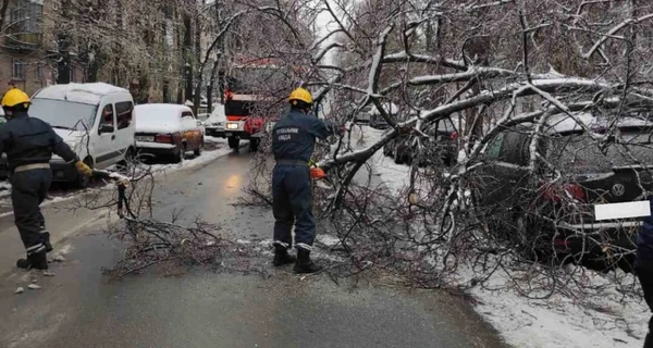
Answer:
[[[32,97],[29,116],[49,123],[95,169],[125,164],[135,153],[134,100],[128,90],[108,84],[48,86]],[[75,167],[54,156],[52,178],[88,185]]]

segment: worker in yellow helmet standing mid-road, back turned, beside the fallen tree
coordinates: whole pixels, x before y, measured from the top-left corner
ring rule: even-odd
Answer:
[[[312,186],[308,162],[311,160],[316,138],[325,139],[338,133],[338,127],[310,114],[312,96],[297,88],[288,98],[291,112],[282,117],[272,130],[272,150],[276,165],[272,173],[274,211],[274,265],[295,262],[296,273],[315,273],[321,270],[310,260],[316,238],[312,215]],[[288,253],[291,231],[295,226],[297,259]]]

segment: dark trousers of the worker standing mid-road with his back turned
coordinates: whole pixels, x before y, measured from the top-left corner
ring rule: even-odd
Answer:
[[[316,223],[308,165],[278,164],[272,172],[272,200],[274,243],[291,247],[291,231],[295,225],[295,246],[310,251],[316,239]]]

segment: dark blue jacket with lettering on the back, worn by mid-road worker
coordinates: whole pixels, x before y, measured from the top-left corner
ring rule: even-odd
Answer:
[[[312,158],[316,138],[326,139],[337,134],[337,126],[315,115],[291,111],[274,125],[272,151],[275,160],[308,161]]]

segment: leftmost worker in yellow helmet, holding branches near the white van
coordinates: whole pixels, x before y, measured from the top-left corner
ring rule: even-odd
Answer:
[[[77,159],[49,124],[29,117],[29,97],[17,88],[9,89],[2,97],[8,122],[0,126],[0,153],[7,153],[14,219],[27,250],[27,259],[19,260],[16,265],[47,270],[46,253],[52,246],[39,206],[52,179],[49,164],[52,152],[74,163],[83,175],[90,176],[91,170]]]

